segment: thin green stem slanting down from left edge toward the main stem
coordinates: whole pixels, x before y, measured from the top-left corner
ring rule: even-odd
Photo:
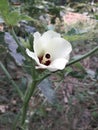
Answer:
[[[6,74],[6,76],[8,77],[8,79],[10,80],[10,82],[12,83],[12,85],[15,87],[15,89],[18,92],[20,98],[23,100],[23,94],[22,94],[22,92],[20,91],[19,87],[16,85],[16,83],[14,82],[14,80],[11,77],[11,75],[8,73],[7,69],[4,67],[4,65],[2,64],[1,61],[0,61],[0,67],[2,68],[2,70],[4,71],[4,73]]]

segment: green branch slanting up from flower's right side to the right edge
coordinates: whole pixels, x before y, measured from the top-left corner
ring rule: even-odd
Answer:
[[[96,51],[98,51],[98,46],[95,47],[94,49],[92,49],[91,51],[89,51],[88,53],[82,55],[80,58],[70,61],[70,62],[67,64],[67,66],[70,66],[70,65],[72,65],[72,64],[74,64],[74,63],[76,63],[76,62],[79,62],[80,60],[85,59],[86,57],[92,55],[92,54],[95,53]]]

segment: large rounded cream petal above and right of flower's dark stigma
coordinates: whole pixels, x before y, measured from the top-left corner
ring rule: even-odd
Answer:
[[[52,56],[52,60],[56,58],[66,58],[72,51],[72,46],[63,38],[53,38],[48,41],[45,51]]]

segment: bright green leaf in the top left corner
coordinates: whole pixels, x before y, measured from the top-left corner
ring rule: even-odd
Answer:
[[[20,14],[19,11],[12,10],[7,0],[0,1],[0,13],[5,23],[8,26],[15,26],[21,20],[32,21],[33,19],[25,14]]]

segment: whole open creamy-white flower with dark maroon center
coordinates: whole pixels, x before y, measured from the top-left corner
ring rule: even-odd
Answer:
[[[69,61],[71,44],[59,33],[47,31],[41,35],[34,33],[34,52],[26,49],[29,57],[36,61],[36,69],[62,70]]]

